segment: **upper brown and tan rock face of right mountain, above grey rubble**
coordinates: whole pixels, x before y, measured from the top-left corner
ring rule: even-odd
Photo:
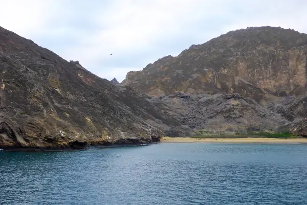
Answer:
[[[177,57],[166,56],[121,85],[149,96],[238,93],[258,103],[269,96],[301,95],[306,88],[307,35],[276,27],[230,31]]]

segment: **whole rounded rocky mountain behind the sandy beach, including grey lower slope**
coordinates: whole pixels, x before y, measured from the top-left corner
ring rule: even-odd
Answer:
[[[194,135],[248,130],[297,134],[307,117],[306,54],[307,34],[250,27],[128,72],[120,85],[151,96]]]

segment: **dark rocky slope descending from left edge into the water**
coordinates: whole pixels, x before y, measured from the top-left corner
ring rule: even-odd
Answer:
[[[134,90],[1,27],[0,75],[1,149],[143,144],[181,126]]]

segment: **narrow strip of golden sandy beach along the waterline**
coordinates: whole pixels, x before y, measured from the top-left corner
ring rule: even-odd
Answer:
[[[307,143],[307,138],[278,139],[278,138],[191,138],[191,137],[162,137],[160,142],[228,142],[228,143]]]

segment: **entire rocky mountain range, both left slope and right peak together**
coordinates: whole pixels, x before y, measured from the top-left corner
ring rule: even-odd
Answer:
[[[231,31],[117,84],[0,27],[0,149],[140,145],[206,132],[306,136],[306,49],[307,35],[289,29]]]

